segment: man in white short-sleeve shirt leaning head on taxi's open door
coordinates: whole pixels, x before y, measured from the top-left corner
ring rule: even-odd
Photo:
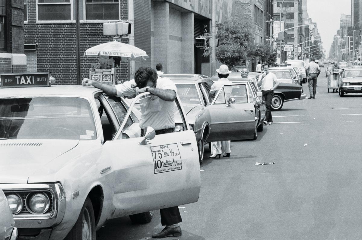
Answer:
[[[141,67],[136,71],[134,79],[115,86],[88,78],[83,79],[82,84],[99,88],[109,96],[128,96],[147,91],[152,93],[155,96],[140,100],[141,133],[143,133],[143,128],[148,126],[155,129],[156,135],[174,131],[176,85],[168,78],[159,77],[152,68]],[[182,222],[182,218],[178,206],[160,209],[160,214],[161,224],[166,227],[161,232],[153,234],[152,237],[181,236],[181,228],[178,223]]]

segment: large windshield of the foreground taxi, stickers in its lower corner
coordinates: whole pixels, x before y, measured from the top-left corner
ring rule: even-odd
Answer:
[[[97,133],[83,98],[0,98],[0,138],[92,140]]]

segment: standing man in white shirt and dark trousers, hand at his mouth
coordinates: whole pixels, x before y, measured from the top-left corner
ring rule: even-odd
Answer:
[[[273,118],[271,117],[271,100],[274,96],[274,89],[279,86],[279,82],[277,81],[277,76],[269,72],[269,63],[264,64],[264,73],[261,75],[258,86],[261,86],[266,104],[265,121],[263,123],[264,125],[271,125],[273,122]]]

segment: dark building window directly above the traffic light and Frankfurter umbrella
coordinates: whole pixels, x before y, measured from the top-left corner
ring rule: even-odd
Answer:
[[[85,0],[86,20],[119,20],[119,0]]]

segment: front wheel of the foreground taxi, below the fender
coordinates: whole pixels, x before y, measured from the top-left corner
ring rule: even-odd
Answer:
[[[87,235],[87,236],[84,236]],[[77,222],[65,238],[66,240],[96,240],[96,221],[94,220],[94,211],[92,201],[87,197],[80,211]]]

